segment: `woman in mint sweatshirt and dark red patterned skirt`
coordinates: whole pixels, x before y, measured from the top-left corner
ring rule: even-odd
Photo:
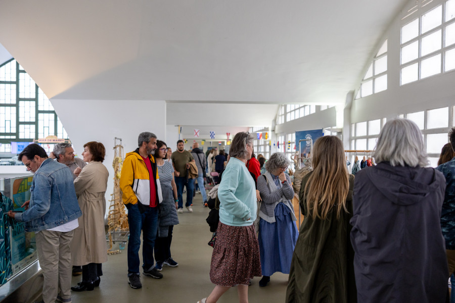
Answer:
[[[253,152],[252,141],[250,133],[239,132],[231,143],[231,159],[218,188],[219,224],[210,265],[210,281],[216,286],[201,303],[216,302],[236,285],[240,302],[246,302],[249,280],[261,276],[259,244],[253,226],[256,188],[246,167]]]

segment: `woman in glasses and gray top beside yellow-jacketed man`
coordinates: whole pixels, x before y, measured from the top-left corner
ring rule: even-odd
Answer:
[[[172,230],[178,224],[177,215],[177,186],[174,181],[174,168],[172,162],[165,161],[167,146],[161,140],[156,141],[157,151],[155,153],[156,167],[160,177],[161,192],[163,201],[159,204],[158,233],[155,238],[155,268],[158,271],[163,265],[170,267],[178,266],[171,257],[170,245],[172,242]]]

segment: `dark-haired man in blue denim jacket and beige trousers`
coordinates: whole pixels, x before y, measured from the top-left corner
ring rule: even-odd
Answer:
[[[38,144],[30,144],[18,156],[35,173],[26,211],[8,216],[25,222],[25,231],[35,232],[36,248],[44,282],[44,303],[71,302],[71,250],[73,230],[81,216],[73,176],[66,165],[48,158]],[[60,282],[60,294],[58,293]]]

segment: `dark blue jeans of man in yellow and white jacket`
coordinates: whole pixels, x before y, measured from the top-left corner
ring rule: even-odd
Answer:
[[[147,210],[142,214],[137,203],[128,209],[128,276],[139,274],[141,230],[144,232],[142,235],[142,260],[144,263],[142,268],[149,270],[153,267],[153,246],[155,246],[155,237],[158,231],[158,207],[146,208]]]

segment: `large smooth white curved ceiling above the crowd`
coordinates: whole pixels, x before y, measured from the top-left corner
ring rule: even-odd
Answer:
[[[341,104],[406,2],[0,1],[0,43],[50,98]]]

